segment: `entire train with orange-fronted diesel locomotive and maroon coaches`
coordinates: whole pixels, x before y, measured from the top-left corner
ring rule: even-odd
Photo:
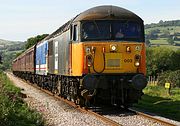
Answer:
[[[76,104],[131,105],[145,88],[143,20],[116,6],[71,19],[13,61],[13,73]]]

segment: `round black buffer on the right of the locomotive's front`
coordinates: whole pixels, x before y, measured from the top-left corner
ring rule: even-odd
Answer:
[[[146,77],[142,74],[137,74],[132,78],[133,87],[137,90],[142,90],[147,85]]]

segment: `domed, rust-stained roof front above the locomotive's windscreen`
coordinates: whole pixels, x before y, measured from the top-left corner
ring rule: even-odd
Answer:
[[[80,13],[74,21],[98,20],[98,19],[142,19],[135,13],[117,6],[97,6]]]

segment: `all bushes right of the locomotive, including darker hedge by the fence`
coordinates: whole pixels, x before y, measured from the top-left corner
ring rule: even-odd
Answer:
[[[170,82],[180,87],[180,50],[169,48],[147,49],[147,74],[158,77],[158,85]]]

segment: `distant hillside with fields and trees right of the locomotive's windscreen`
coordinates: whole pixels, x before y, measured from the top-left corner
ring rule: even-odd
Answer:
[[[180,49],[180,20],[161,20],[159,23],[146,24],[145,38],[148,46]]]

